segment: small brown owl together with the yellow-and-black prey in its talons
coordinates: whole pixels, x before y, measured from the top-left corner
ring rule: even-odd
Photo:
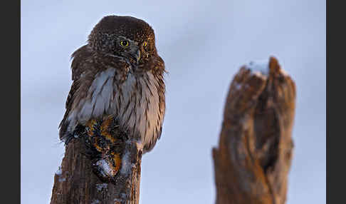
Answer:
[[[141,19],[105,16],[72,58],[59,136],[65,144],[83,140],[98,175],[115,175],[122,142],[135,140],[146,153],[162,133],[165,67],[154,31]],[[100,169],[105,162],[112,172]]]

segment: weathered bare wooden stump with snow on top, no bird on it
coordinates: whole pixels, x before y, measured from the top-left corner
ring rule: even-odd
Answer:
[[[276,58],[268,69],[243,66],[229,88],[219,147],[212,151],[216,204],[285,203],[295,83]]]

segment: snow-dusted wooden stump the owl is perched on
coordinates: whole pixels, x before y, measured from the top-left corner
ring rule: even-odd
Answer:
[[[92,163],[85,156],[85,145],[73,140],[65,147],[61,168],[54,176],[51,204],[137,204],[140,199],[140,164],[142,149],[135,142],[126,142],[125,151],[130,170],[120,170],[116,183],[103,183],[93,173]]]

